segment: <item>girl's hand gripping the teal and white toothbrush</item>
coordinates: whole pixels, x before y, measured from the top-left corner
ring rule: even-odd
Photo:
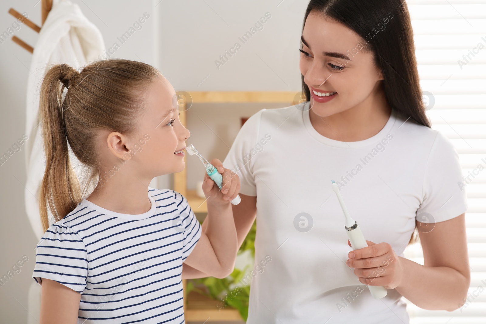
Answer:
[[[240,177],[235,172],[224,168],[223,163],[218,159],[212,159],[211,164],[223,176],[223,183],[220,190],[218,185],[208,176],[208,173],[205,173],[203,182],[204,195],[208,203],[227,205],[240,192]]]

